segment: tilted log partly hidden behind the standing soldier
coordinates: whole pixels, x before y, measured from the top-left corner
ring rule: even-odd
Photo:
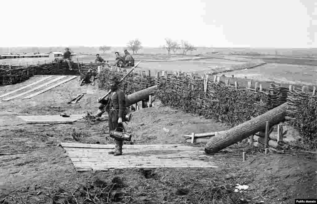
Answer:
[[[142,100],[146,100],[149,98],[149,95],[152,94],[155,89],[157,89],[157,85],[151,86],[146,89],[142,89],[140,91],[137,91],[133,94],[127,95],[126,96],[126,107],[129,107],[133,105],[134,103],[137,103]],[[95,115],[96,117],[101,117],[101,115],[106,112],[105,109],[99,110],[98,113]]]

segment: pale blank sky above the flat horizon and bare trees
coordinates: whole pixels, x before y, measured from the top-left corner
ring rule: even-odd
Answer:
[[[1,1],[0,47],[316,48],[314,0]]]

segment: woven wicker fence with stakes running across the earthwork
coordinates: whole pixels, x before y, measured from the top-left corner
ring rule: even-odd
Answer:
[[[99,89],[108,89],[110,75],[118,78],[126,69],[111,69],[107,63],[46,63],[27,67],[0,65],[0,85],[22,82],[33,75],[83,75],[88,69],[98,72]],[[234,127],[287,102],[285,122],[294,126],[304,143],[317,147],[317,96],[315,86],[281,86],[234,76],[193,76],[192,73],[165,71],[133,72],[121,84],[127,95],[158,85],[153,93],[162,104],[188,113],[214,118]],[[259,133],[259,137],[261,133]],[[261,141],[261,138],[259,139]]]

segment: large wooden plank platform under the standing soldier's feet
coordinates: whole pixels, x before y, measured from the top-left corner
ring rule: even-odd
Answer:
[[[123,155],[109,155],[114,145],[61,143],[77,171],[126,168],[217,168],[202,147],[181,144],[123,145]]]

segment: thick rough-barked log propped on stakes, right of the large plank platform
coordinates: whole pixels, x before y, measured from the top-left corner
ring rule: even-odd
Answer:
[[[250,135],[254,135],[265,129],[267,121],[271,127],[282,122],[285,119],[286,107],[287,103],[283,103],[282,105],[236,127],[226,131],[220,131],[217,136],[212,137],[206,143],[205,152],[207,154],[216,153],[238,141],[246,139]]]

